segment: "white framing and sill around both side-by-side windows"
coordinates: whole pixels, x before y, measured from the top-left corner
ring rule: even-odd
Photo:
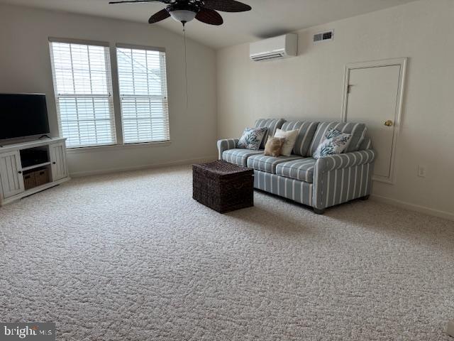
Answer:
[[[105,144],[105,145],[93,145],[93,146],[75,146],[67,148],[67,153],[84,153],[92,151],[110,151],[118,150],[124,148],[143,148],[143,147],[160,147],[160,146],[170,146],[172,144],[172,139],[170,136],[170,104],[169,104],[169,87],[168,87],[168,58],[165,48],[159,48],[154,46],[146,45],[135,45],[135,44],[125,44],[125,43],[114,43],[111,45],[109,42],[98,41],[98,40],[83,40],[83,39],[72,39],[72,38],[48,38],[49,43],[49,52],[50,52],[50,67],[52,69],[52,85],[54,91],[54,100],[55,100],[55,109],[57,109],[57,121],[58,121],[58,131],[60,136],[62,136],[62,127],[60,124],[60,113],[57,103],[57,92],[54,83],[54,65],[52,63],[52,54],[50,49],[50,43],[73,43],[79,45],[96,45],[102,46],[109,49],[109,59],[110,59],[110,76],[111,76],[111,99],[113,104],[113,115],[114,115],[114,144]],[[167,129],[169,131],[169,139],[165,141],[143,141],[136,143],[124,143],[123,139],[123,114],[121,111],[121,98],[120,98],[120,83],[118,77],[118,59],[117,59],[117,48],[131,48],[138,50],[151,50],[157,52],[165,53],[165,86],[167,89]]]

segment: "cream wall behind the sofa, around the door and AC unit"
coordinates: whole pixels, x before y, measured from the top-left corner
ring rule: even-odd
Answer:
[[[421,0],[299,31],[299,57],[289,60],[253,63],[248,44],[219,50],[218,137],[259,117],[341,120],[346,63],[409,57],[397,183],[375,183],[373,193],[454,217],[453,18],[454,1]],[[333,42],[311,43],[331,28]]]

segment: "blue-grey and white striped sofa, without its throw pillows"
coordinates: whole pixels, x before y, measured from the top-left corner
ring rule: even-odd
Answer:
[[[219,159],[254,169],[255,188],[314,207],[318,214],[327,207],[369,197],[376,154],[365,124],[284,119],[255,122],[255,127],[264,126],[268,128],[267,136],[273,136],[278,128],[299,130],[291,156],[265,156],[267,136],[258,151],[236,148],[238,139],[218,141]],[[351,134],[348,148],[344,153],[316,160],[311,156],[329,129]]]

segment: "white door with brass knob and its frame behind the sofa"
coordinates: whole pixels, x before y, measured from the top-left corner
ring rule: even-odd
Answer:
[[[357,66],[346,69],[344,119],[366,124],[377,151],[375,180],[392,182],[404,65],[374,65],[371,62]]]

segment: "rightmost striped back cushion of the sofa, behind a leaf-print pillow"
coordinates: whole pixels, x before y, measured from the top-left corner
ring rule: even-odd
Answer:
[[[350,134],[350,142],[348,143],[347,148],[344,153],[349,153],[350,151],[358,151],[360,145],[366,135],[366,125],[363,123],[354,123],[354,122],[322,122],[317,127],[314,139],[312,139],[311,146],[309,147],[309,155],[313,155],[316,151],[316,148],[319,146],[323,137],[326,133],[331,130],[336,129],[342,133]]]

